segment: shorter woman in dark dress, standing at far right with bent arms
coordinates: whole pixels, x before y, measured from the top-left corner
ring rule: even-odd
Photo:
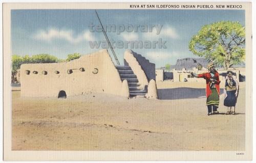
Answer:
[[[225,90],[224,90],[224,106],[227,106],[226,114],[236,114],[235,107],[238,98],[239,83],[233,78],[233,72],[227,71]]]

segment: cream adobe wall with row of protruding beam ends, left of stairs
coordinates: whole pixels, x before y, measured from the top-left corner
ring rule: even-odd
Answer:
[[[79,68],[84,68],[84,71]],[[73,73],[68,74],[69,69]],[[30,74],[26,74],[26,70]],[[47,74],[42,74],[42,71],[47,71]],[[20,82],[21,95],[27,97],[57,97],[61,90],[67,96],[91,92],[127,95],[127,92],[120,91],[125,89],[122,89],[119,73],[105,49],[70,62],[23,64],[20,68]]]

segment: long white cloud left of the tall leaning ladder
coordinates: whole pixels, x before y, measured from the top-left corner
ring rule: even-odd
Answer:
[[[44,40],[48,42],[51,42],[54,39],[60,39],[66,40],[72,44],[77,44],[83,40],[94,40],[94,36],[90,31],[85,31],[75,37],[72,30],[57,29],[49,29],[48,31],[40,30],[37,34],[34,35],[34,38],[37,40]]]

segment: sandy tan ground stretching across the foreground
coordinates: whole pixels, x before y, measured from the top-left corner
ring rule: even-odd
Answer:
[[[164,100],[86,94],[66,99],[12,91],[12,150],[245,150],[245,88],[237,115],[207,116],[204,89],[159,87]],[[174,91],[174,90],[173,90]],[[161,93],[165,93],[161,95]],[[189,95],[189,96],[188,96]],[[182,97],[183,99],[179,99]]]

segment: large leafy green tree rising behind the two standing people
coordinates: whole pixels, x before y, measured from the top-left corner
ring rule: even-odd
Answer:
[[[188,48],[194,55],[227,69],[245,60],[245,28],[232,21],[204,25]]]

